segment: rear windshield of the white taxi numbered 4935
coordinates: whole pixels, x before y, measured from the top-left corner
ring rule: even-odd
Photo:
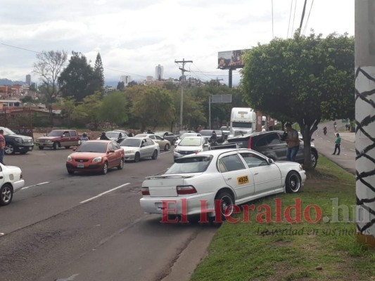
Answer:
[[[174,160],[174,164],[165,174],[202,173],[210,164],[212,156],[182,157]]]

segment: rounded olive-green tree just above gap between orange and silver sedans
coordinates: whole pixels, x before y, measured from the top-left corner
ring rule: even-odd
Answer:
[[[112,92],[104,97],[101,103],[101,119],[111,124],[127,122],[127,99],[122,92]]]

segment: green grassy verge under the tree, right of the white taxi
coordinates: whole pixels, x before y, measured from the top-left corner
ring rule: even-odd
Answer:
[[[282,200],[281,223],[275,222],[277,198]],[[288,223],[284,211],[297,198],[301,222]],[[251,204],[255,210],[250,211],[249,223],[223,223],[192,281],[375,280],[375,251],[357,242],[355,234],[355,177],[325,157],[319,157],[317,169],[308,172],[298,194],[275,195]],[[270,207],[272,222],[257,222],[257,217],[265,219],[262,204]],[[304,216],[312,204],[322,210],[317,223]],[[295,212],[291,214],[295,218]],[[314,220],[314,208],[310,214]],[[238,218],[243,220],[243,213]],[[324,222],[327,218],[329,222]]]

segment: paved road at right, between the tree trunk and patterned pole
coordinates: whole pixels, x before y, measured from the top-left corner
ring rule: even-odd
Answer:
[[[337,121],[338,130],[345,128],[345,124],[341,121]],[[326,126],[328,132],[324,136],[323,128]],[[348,131],[338,131],[341,135],[341,153],[340,155],[332,155],[335,148],[336,132],[333,129],[333,122],[326,122],[318,125],[319,129],[314,132],[312,138],[314,138],[314,144],[318,152],[333,162],[343,167],[343,169],[349,171],[351,174],[355,174],[355,133]],[[319,160],[318,160],[319,164]]]

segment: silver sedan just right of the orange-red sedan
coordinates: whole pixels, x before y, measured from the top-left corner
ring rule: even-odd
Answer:
[[[157,159],[160,147],[151,138],[125,138],[120,143],[120,147],[125,151],[125,161],[139,162],[139,159],[149,158]]]

